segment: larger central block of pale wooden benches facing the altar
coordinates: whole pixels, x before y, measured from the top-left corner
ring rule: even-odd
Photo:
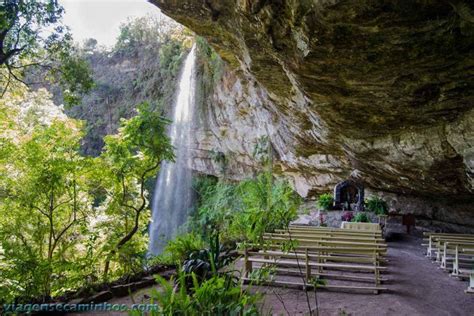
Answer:
[[[263,236],[262,245],[247,245],[242,251],[244,280],[251,282],[252,272],[265,267],[277,275],[300,276],[303,282],[265,281],[278,286],[327,289],[357,289],[374,293],[387,290],[381,284],[387,279],[387,245],[382,232],[350,229],[290,226]],[[363,275],[365,273],[365,275]],[[351,284],[316,284],[314,278],[337,279]],[[371,282],[373,286],[353,285]]]

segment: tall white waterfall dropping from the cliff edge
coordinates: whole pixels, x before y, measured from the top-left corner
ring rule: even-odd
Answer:
[[[165,161],[156,181],[152,200],[149,252],[160,254],[167,241],[178,233],[193,206],[192,173],[188,168],[189,144],[194,107],[195,45],[189,52],[179,77],[170,139],[175,162]]]

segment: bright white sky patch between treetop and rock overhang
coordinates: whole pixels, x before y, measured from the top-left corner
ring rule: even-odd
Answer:
[[[120,24],[128,17],[159,16],[160,10],[146,0],[59,0],[64,7],[63,22],[71,28],[76,42],[95,38],[99,45],[112,46]]]

